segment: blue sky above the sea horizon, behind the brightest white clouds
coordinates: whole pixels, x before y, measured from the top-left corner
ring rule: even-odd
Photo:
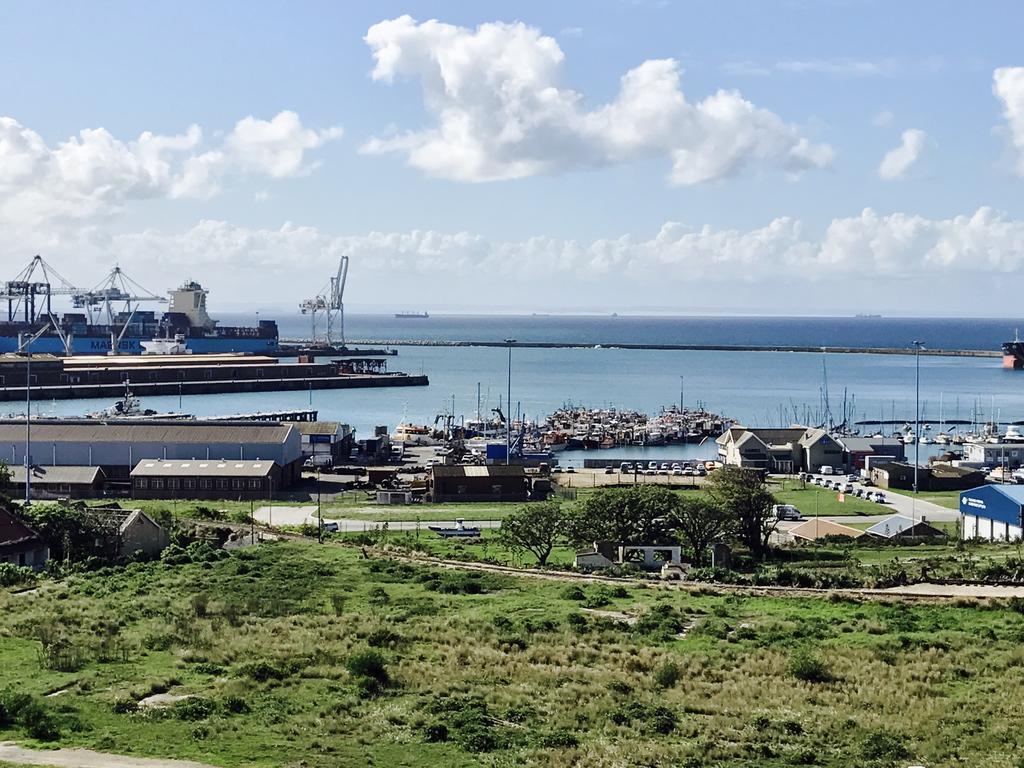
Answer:
[[[406,14],[416,22],[401,31],[402,62],[375,79],[364,37]],[[102,128],[129,160],[146,131],[198,125],[202,139],[171,151],[164,179],[148,169],[144,183],[129,171],[112,181],[90,167],[73,201],[68,179],[45,170],[49,155],[34,161],[48,180],[20,174],[5,185],[0,165],[0,256],[12,271],[44,252],[83,284],[116,259],[155,290],[187,269],[231,307],[291,306],[344,251],[350,300],[367,307],[998,313],[1022,268],[1024,169],[993,73],[1024,66],[1022,16],[1011,2],[7,3],[0,116],[23,135],[56,152]],[[449,27],[428,33],[429,19]],[[506,40],[528,67],[535,52],[513,48],[520,33],[509,31],[520,23],[536,31],[524,45],[557,47],[552,84],[577,99],[569,122],[615,102],[634,68],[674,59],[687,109],[736,91],[777,126],[760,125],[765,135],[735,169],[719,172],[712,159],[696,180],[685,169],[730,131],[744,135],[741,120],[697,129],[691,115],[637,137],[647,121],[624,128],[624,108],[598,129],[545,123],[522,147],[500,150],[481,129],[486,162],[468,170],[445,159],[460,152],[452,141],[423,147],[421,161],[408,145],[368,153],[374,137],[420,141],[440,121],[424,90],[430,66],[413,46],[443,55],[496,22],[507,27],[479,58],[459,59],[459,77],[477,76]],[[396,34],[381,32],[392,43]],[[479,91],[507,86],[504,76],[518,82],[480,76],[446,106],[479,118],[495,97]],[[263,138],[284,111],[298,121],[289,135],[305,136],[299,162],[266,154],[289,148]],[[236,141],[250,116],[252,140]],[[526,110],[510,125],[537,118]],[[620,128],[624,138],[607,139]],[[907,130],[921,132],[912,161],[880,177]],[[820,152],[796,167],[801,140]],[[674,179],[677,151],[689,154]],[[0,164],[14,167],[12,152],[0,150]],[[217,180],[185,190],[185,159],[204,153],[218,154],[207,156]],[[114,163],[96,153],[88,162]],[[985,208],[994,211],[978,217]],[[857,236],[829,234],[837,220]],[[772,227],[779,221],[788,223]],[[706,236],[681,240],[679,225]]]

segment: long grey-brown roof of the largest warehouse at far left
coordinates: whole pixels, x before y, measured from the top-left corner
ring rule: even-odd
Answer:
[[[38,442],[197,442],[252,443],[288,440],[292,427],[266,422],[100,421],[93,419],[33,421]],[[25,422],[0,421],[0,442],[25,440]]]

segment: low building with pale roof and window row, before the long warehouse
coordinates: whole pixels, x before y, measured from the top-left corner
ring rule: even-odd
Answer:
[[[282,468],[272,461],[143,459],[131,471],[135,499],[273,499]]]

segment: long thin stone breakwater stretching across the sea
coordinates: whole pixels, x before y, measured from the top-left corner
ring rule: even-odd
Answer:
[[[282,340],[283,345],[308,344],[299,339]],[[436,339],[351,339],[348,344],[377,345],[391,347],[506,347],[504,341],[450,341]],[[513,347],[534,349],[632,349],[632,350],[664,350],[664,351],[697,351],[697,352],[828,352],[836,354],[914,354],[911,347],[842,347],[842,346],[807,346],[791,344],[641,344],[632,342],[598,342],[594,344],[572,341],[517,341]],[[992,357],[1002,356],[1001,351],[994,349],[922,349],[922,355],[933,357]]]

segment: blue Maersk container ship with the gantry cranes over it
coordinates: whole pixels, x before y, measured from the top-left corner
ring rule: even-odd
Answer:
[[[84,291],[36,256],[2,289],[0,353],[17,351],[37,334],[31,350],[58,355],[140,354],[160,340],[173,340],[197,354],[278,350],[274,321],[259,321],[254,327],[220,326],[207,313],[209,291],[194,281],[169,292],[168,299],[150,293],[114,267],[98,286]],[[52,307],[55,297],[69,298],[76,311],[58,316]],[[168,306],[158,313],[141,309],[142,302]]]

